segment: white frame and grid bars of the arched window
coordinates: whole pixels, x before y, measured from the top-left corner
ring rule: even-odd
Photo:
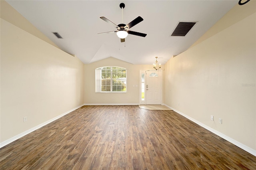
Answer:
[[[103,69],[108,67],[110,67],[110,69]],[[120,80],[121,82],[125,81],[126,91],[113,91],[113,87],[115,86],[113,85],[113,80],[118,80],[113,78],[113,67],[117,68],[114,70],[125,70],[125,78],[121,78]],[[102,70],[106,70],[106,73],[107,73],[107,70],[110,70],[110,79],[107,79],[107,78],[102,79]],[[116,73],[118,73],[118,71]],[[110,80],[110,91],[102,91],[102,80]],[[116,85],[116,87],[118,87],[118,85]],[[95,93],[127,93],[127,69],[119,66],[104,66],[104,67],[96,68],[95,69]]]

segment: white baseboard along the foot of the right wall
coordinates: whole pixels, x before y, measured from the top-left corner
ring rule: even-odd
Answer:
[[[164,105],[165,105],[165,104],[164,104]],[[208,127],[208,126],[204,125],[203,123],[197,121],[196,119],[193,119],[192,117],[189,117],[188,115],[185,115],[184,113],[181,113],[180,111],[178,111],[178,110],[176,110],[176,109],[174,109],[174,108],[172,108],[172,107],[170,107],[170,106],[168,106],[168,105],[165,105],[165,106],[166,106],[166,107],[169,107],[170,109],[172,109],[173,111],[177,112],[178,114],[180,114],[180,115],[186,117],[186,118],[189,119],[190,121],[193,121],[193,122],[196,123],[197,125],[199,125],[199,126],[205,128],[205,129],[209,130],[210,132],[212,132],[212,133],[214,133],[214,134],[220,136],[221,138],[227,140],[228,142],[230,142],[230,143],[232,143],[232,144],[238,146],[239,148],[245,150],[246,152],[248,152],[248,153],[250,153],[250,154],[256,156],[256,150],[254,150],[254,149],[252,149],[252,148],[250,148],[250,147],[248,147],[248,146],[246,146],[246,145],[244,145],[244,144],[238,142],[237,140],[234,140],[233,138],[230,138],[229,136],[226,136],[225,134],[223,134],[223,133],[221,133],[221,132],[219,132],[219,131],[217,131],[217,130],[211,128],[211,127]]]

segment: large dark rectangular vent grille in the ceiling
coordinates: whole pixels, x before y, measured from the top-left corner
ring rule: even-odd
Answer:
[[[196,22],[179,22],[171,36],[186,36]]]

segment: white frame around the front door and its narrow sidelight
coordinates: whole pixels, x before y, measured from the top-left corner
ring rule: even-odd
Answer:
[[[146,71],[156,71],[156,70],[140,70],[140,105],[146,105],[146,92],[144,92],[144,101],[142,101],[142,81],[141,81],[141,75],[142,73],[144,73],[146,75]],[[162,70],[157,70],[157,71],[161,71],[161,105],[163,105],[163,71]],[[144,76],[146,77],[146,76]],[[144,83],[144,89],[146,89],[146,79],[145,79],[145,83]]]

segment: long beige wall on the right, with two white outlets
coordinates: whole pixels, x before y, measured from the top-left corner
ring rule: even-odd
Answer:
[[[246,6],[250,14],[236,20]],[[219,21],[232,20],[230,26],[221,27],[217,23],[210,30],[213,34],[206,33],[206,38],[171,58],[165,66],[166,105],[253,150],[256,150],[255,6],[255,1],[236,6]],[[210,121],[210,115],[214,115],[214,121]]]

